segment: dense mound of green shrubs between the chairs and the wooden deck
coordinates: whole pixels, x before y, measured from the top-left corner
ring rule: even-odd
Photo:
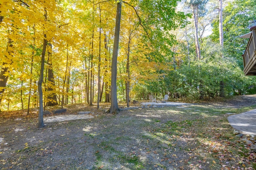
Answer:
[[[220,81],[224,81],[225,96],[254,92],[255,78],[244,76],[236,62],[228,57],[205,57],[166,74],[150,82],[148,90],[162,93],[158,96],[169,92],[174,98],[207,99],[219,96]]]

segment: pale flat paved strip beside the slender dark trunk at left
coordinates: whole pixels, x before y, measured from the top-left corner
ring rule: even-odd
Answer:
[[[67,121],[76,119],[91,119],[94,118],[92,115],[56,115],[44,117],[44,122],[54,122],[54,121]]]

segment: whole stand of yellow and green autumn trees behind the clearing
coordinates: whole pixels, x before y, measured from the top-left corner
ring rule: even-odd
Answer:
[[[1,0],[0,109],[255,94],[239,38],[255,16],[255,0]]]

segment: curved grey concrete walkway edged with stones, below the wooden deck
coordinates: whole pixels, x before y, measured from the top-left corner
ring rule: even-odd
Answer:
[[[256,109],[228,117],[230,125],[242,133],[256,135]]]

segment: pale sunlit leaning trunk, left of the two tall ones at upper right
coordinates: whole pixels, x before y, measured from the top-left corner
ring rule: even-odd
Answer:
[[[201,52],[200,52],[200,45],[199,45],[199,39],[198,39],[198,5],[192,5],[192,14],[194,17],[194,27],[195,27],[195,43],[196,43],[196,57],[198,60],[201,59]]]

